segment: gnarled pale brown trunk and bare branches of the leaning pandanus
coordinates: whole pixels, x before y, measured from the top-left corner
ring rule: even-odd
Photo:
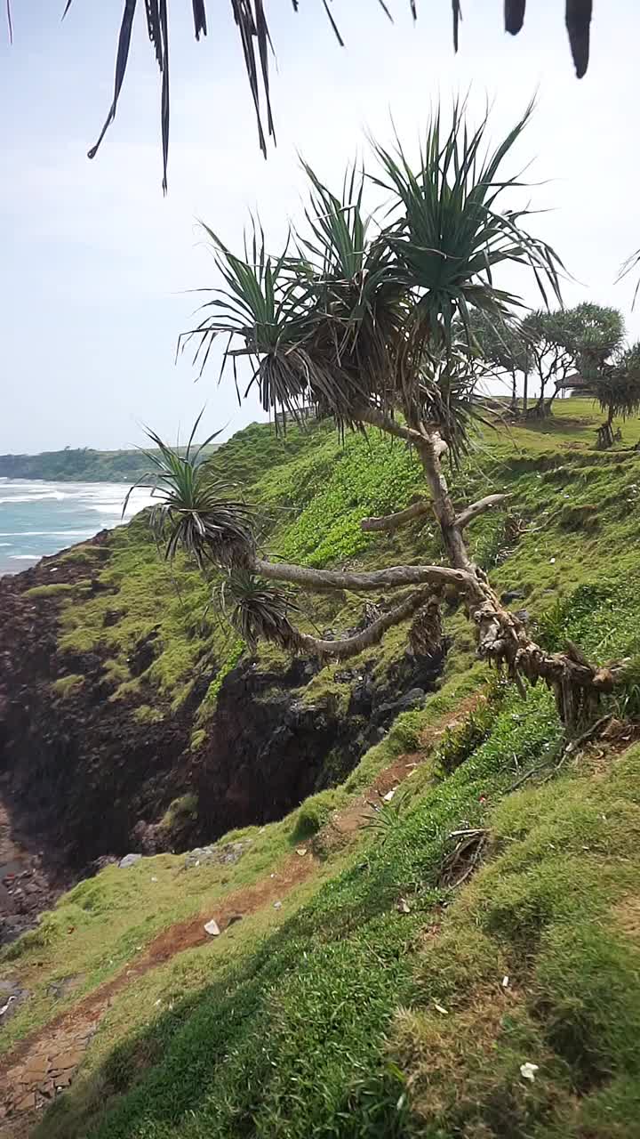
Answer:
[[[465,530],[475,518],[508,495],[489,494],[457,511],[442,469],[442,457],[448,451],[448,444],[437,429],[418,420],[404,426],[370,405],[361,407],[358,418],[361,423],[388,431],[415,446],[430,490],[428,503],[420,499],[387,517],[366,518],[362,522],[363,530],[393,531],[418,519],[430,509],[440,525],[450,564],[401,565],[358,573],[351,570],[313,570],[254,558],[254,573],[272,581],[300,585],[305,590],[366,592],[419,587],[364,630],[342,640],[310,637],[287,623],[288,647],[293,652],[307,652],[321,658],[346,658],[377,644],[387,629],[409,616],[416,616],[418,622],[416,624],[415,621],[413,634],[424,639],[427,625],[435,629],[433,611],[436,597],[448,587],[466,600],[469,617],[477,631],[479,657],[499,670],[506,669],[523,696],[526,695],[525,680],[532,686],[542,680],[555,694],[563,722],[569,730],[575,729],[594,713],[600,696],[613,690],[624,662],[597,667],[571,644],[565,653],[547,653],[531,639],[525,624],[501,605],[486,574],[469,554]],[[424,628],[420,630],[418,625]]]

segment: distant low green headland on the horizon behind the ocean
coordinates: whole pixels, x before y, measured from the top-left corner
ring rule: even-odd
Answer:
[[[213,453],[218,445],[207,450]],[[128,483],[149,469],[138,449],[95,451],[90,446],[42,451],[40,454],[0,454],[0,478],[47,478],[52,482]]]

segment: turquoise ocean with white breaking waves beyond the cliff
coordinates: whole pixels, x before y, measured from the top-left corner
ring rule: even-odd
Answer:
[[[49,483],[0,478],[0,576],[19,573],[44,555],[57,554],[121,525],[129,486],[121,483]],[[124,521],[150,502],[133,491]]]

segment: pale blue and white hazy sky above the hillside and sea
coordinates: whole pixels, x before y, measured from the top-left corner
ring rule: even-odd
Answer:
[[[115,123],[98,156],[110,104],[122,0],[13,0],[14,42],[0,27],[0,452],[143,442],[149,425],[170,442],[203,426],[227,437],[260,417],[238,407],[231,376],[218,384],[212,353],[198,379],[191,358],[175,362],[178,336],[216,284],[206,221],[239,246],[257,211],[279,251],[300,220],[302,155],[333,185],[355,155],[368,165],[368,137],[417,149],[429,110],[469,93],[469,114],[491,104],[498,141],[536,95],[518,162],[536,185],[520,198],[543,211],[535,232],[572,277],[568,304],[615,304],[640,337],[634,281],[615,285],[640,246],[635,210],[635,0],[600,0],[586,76],[575,79],[563,0],[530,0],[517,38],[501,26],[500,0],[466,0],[460,51],[451,44],[451,5],[335,0],[340,48],[321,0],[268,0],[277,59],[272,75],[277,147],[257,147],[252,100],[231,6],[210,0],[210,34],[195,42],[191,5],[172,0],[169,194],[162,194],[159,80],[140,0]],[[500,284],[500,281],[499,281]],[[509,280],[509,285],[514,281]],[[516,287],[538,305],[535,286]]]

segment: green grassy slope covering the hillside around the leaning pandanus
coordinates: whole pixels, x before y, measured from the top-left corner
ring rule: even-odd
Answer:
[[[543,433],[485,441],[460,476],[461,498],[476,484],[514,495],[507,515],[476,525],[476,554],[499,587],[524,589],[526,600],[517,604],[530,608],[550,647],[571,636],[600,659],[638,656],[640,456],[590,451],[586,420],[598,415],[582,402],[557,412]],[[629,424],[625,443],[639,434]],[[253,444],[261,445],[259,434]],[[425,547],[436,552],[428,533],[371,544],[359,533],[362,513],[404,505],[417,484],[400,448],[371,445],[384,453],[367,462],[362,440],[347,441],[344,452],[322,428],[300,446],[292,440],[296,453],[255,487],[273,510],[281,552],[310,564],[400,560]],[[380,476],[374,459],[378,468],[383,461]],[[114,637],[121,687],[131,685],[128,644],[157,622],[157,605],[155,614],[138,612],[133,600],[149,575],[154,591],[166,589],[150,552],[140,560],[134,530],[122,535],[122,564],[108,572],[121,574],[131,629],[100,631],[98,597],[82,601],[84,623],[72,616],[77,606],[66,611],[64,633],[74,644]],[[194,622],[202,620],[199,589],[195,581],[189,587]],[[339,604],[345,613],[352,605]],[[189,667],[206,653],[222,656],[223,646],[212,630],[195,648],[197,637],[184,642],[187,618],[178,609],[164,620],[175,626],[167,624],[165,652],[151,667],[161,689],[180,694]],[[42,1137],[638,1134],[640,747],[624,751],[623,741],[615,753],[567,761],[540,782],[560,754],[552,700],[535,690],[523,704],[492,686],[482,713],[429,751],[428,726],[487,682],[477,666],[463,672],[469,639],[459,614],[450,631],[448,673],[426,708],[396,721],[340,788],[280,823],[245,831],[253,843],[236,866],[183,871],[183,859],[159,855],[130,871],[108,868],[14,948],[6,968],[33,998],[9,1022],[2,1047],[134,964],[171,923],[215,912],[224,893],[277,872],[394,755],[421,751],[400,806],[384,808],[378,828],[328,845],[319,871],[281,909],[259,910],[114,1000]],[[392,652],[393,644],[376,650],[378,667]],[[194,655],[184,663],[182,653]],[[335,672],[323,670],[311,688],[339,689]],[[640,679],[637,667],[634,674]],[[616,711],[640,713],[633,675]],[[536,778],[509,793],[528,768],[539,769]],[[483,866],[451,892],[441,884],[453,845],[448,836],[467,826],[487,831]],[[69,974],[79,985],[55,1003],[48,986]],[[533,1083],[520,1076],[525,1062],[539,1065]]]

